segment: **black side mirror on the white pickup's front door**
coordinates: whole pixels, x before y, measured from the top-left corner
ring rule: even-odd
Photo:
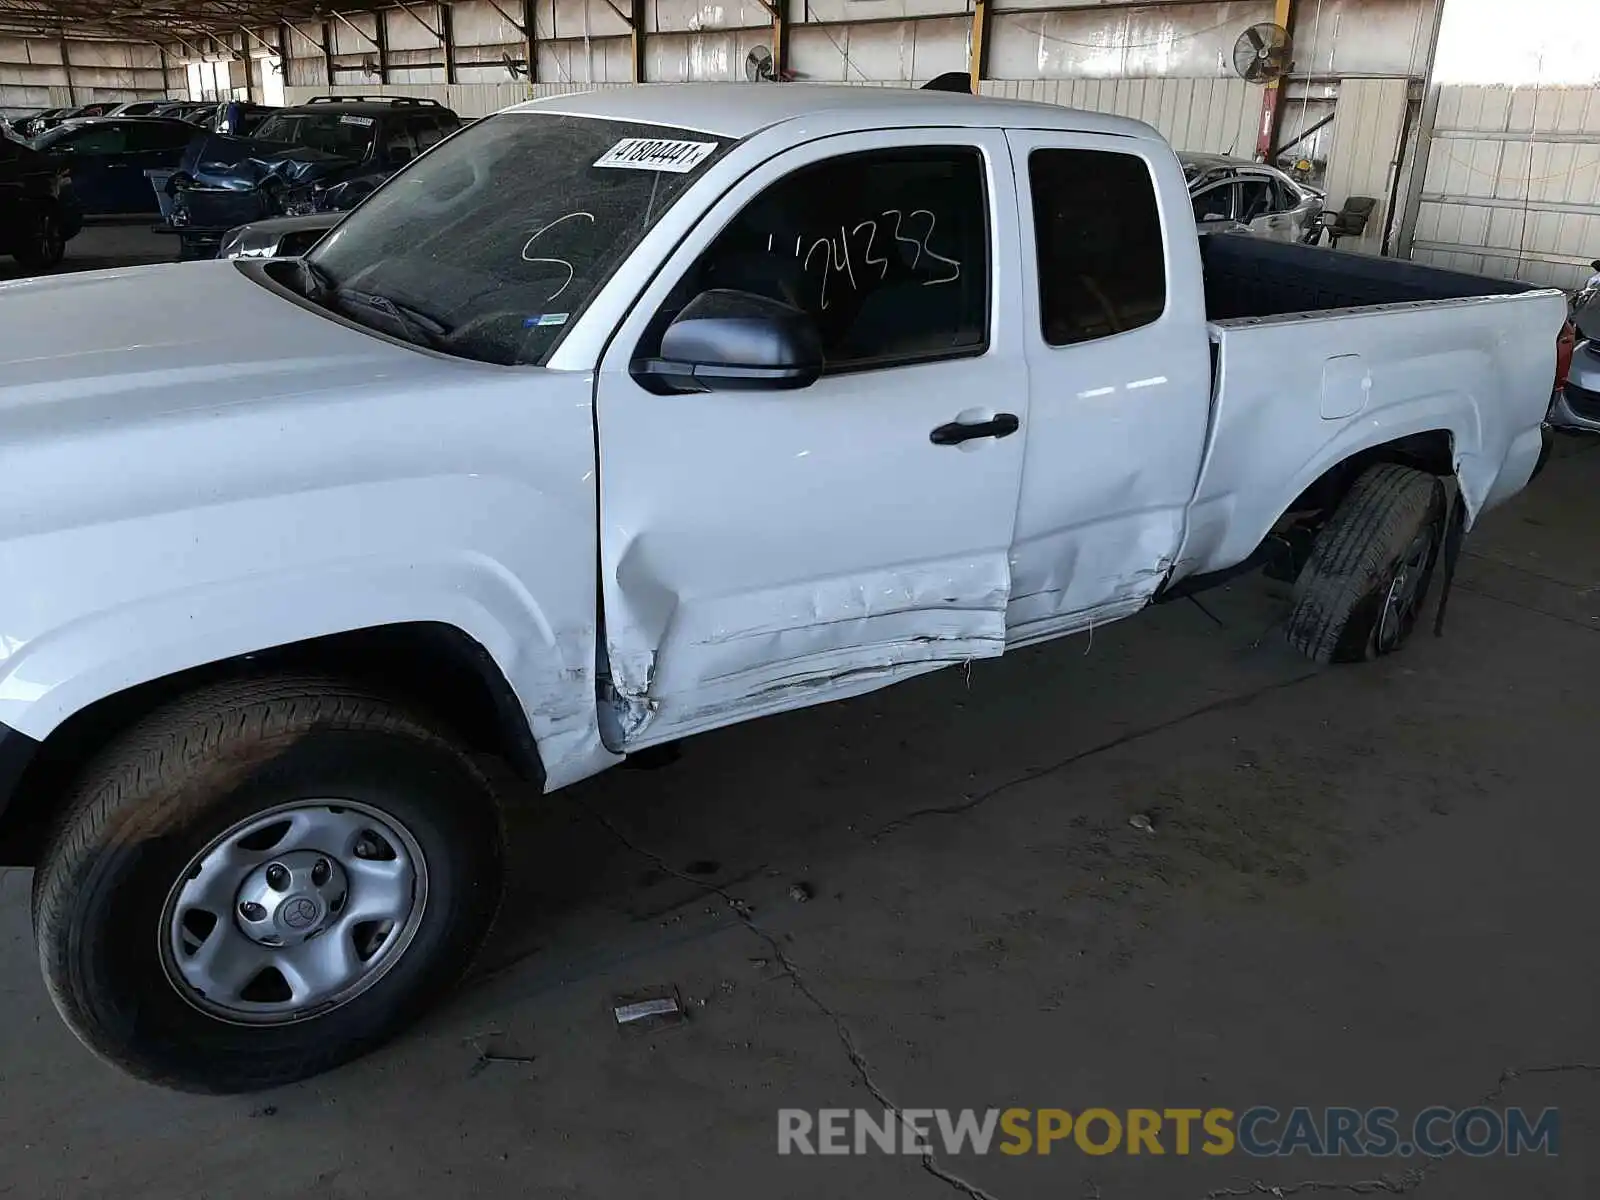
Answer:
[[[821,378],[822,339],[790,304],[714,288],[661,334],[661,357],[635,358],[630,373],[662,394],[794,390]]]

